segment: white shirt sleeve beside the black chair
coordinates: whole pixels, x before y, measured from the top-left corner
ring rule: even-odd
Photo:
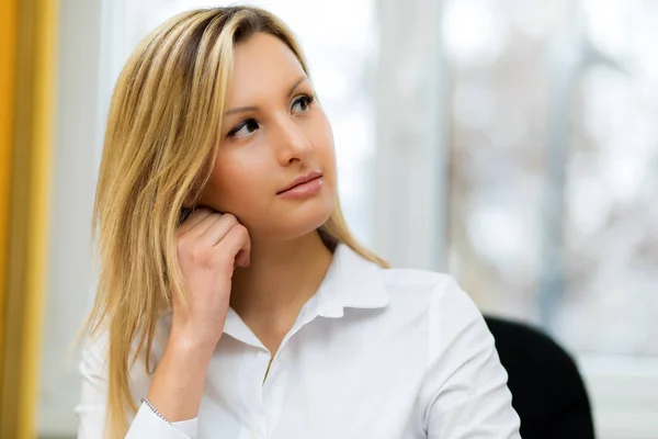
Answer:
[[[434,291],[423,426],[430,439],[520,439],[507,372],[483,315],[450,278]]]

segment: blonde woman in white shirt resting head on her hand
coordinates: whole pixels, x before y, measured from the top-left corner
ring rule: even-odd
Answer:
[[[155,30],[115,88],[79,438],[518,438],[481,315],[342,217],[290,31],[247,7]]]

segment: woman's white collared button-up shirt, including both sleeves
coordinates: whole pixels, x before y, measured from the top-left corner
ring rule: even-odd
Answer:
[[[158,322],[161,358],[170,315]],[[83,351],[78,438],[102,437],[102,342]],[[382,269],[340,245],[316,294],[270,352],[229,309],[198,417],[168,424],[141,404],[127,438],[520,438],[507,373],[481,314],[444,274]],[[136,402],[151,375],[131,373]]]

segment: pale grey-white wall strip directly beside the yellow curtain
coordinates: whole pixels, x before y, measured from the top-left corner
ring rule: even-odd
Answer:
[[[41,360],[39,436],[73,436],[80,380],[73,336],[90,305],[97,175],[100,0],[60,0],[49,269]]]

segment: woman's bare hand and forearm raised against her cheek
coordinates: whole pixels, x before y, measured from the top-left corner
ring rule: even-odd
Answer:
[[[148,398],[170,421],[198,414],[205,374],[224,333],[236,266],[247,267],[251,243],[230,214],[194,211],[178,232],[178,257],[189,306],[172,292],[173,320]]]

